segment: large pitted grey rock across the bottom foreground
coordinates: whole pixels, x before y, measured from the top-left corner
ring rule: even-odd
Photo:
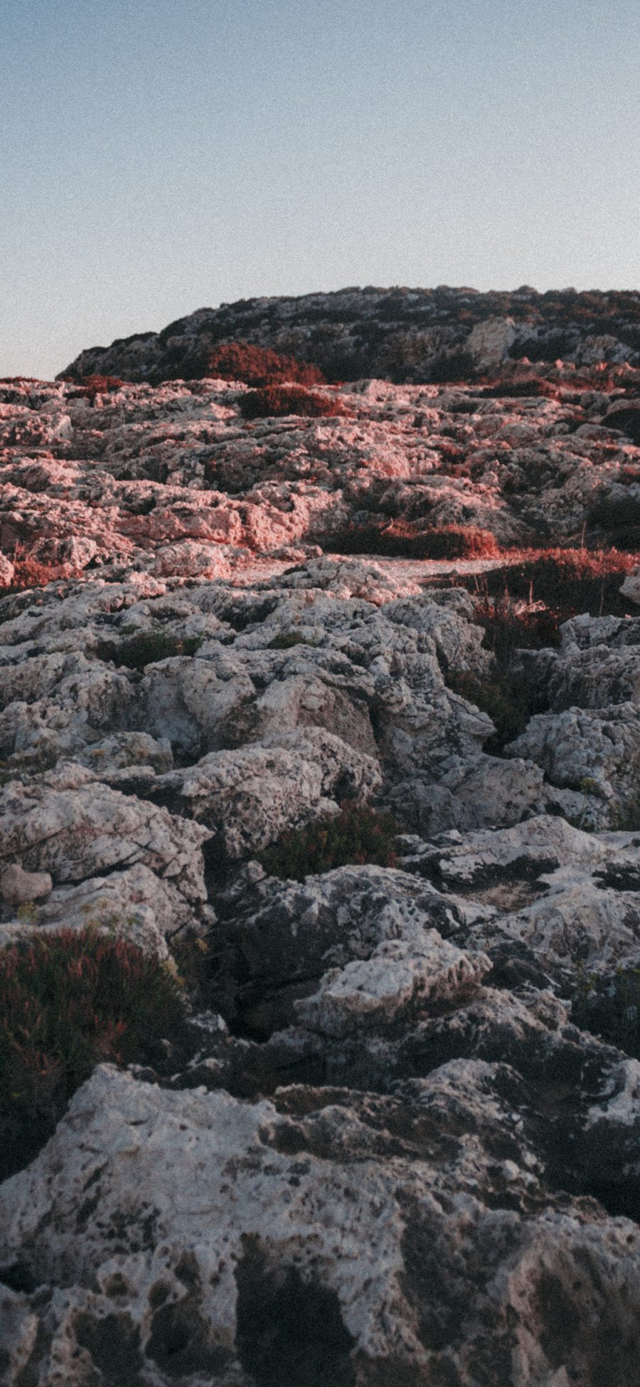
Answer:
[[[319,1387],[495,1387],[497,1365],[632,1387],[637,1229],[544,1197],[507,1067],[349,1097],[313,1111],[313,1090],[283,1090],[278,1115],[97,1069],[0,1190],[7,1381],[72,1387],[118,1362],[229,1387],[314,1362]]]

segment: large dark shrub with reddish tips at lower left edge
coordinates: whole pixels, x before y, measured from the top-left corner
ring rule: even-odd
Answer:
[[[168,968],[93,928],[0,949],[0,1176],[30,1160],[96,1064],[144,1060],[183,1019]]]

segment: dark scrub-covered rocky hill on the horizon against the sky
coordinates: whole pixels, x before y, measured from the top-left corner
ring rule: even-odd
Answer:
[[[640,294],[568,288],[479,294],[472,288],[342,288],[299,298],[248,298],[201,308],[161,333],[91,347],[64,374],[194,379],[223,341],[272,347],[319,366],[327,380],[468,380],[501,361],[640,366]]]

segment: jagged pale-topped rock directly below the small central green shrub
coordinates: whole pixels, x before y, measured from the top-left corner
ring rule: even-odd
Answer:
[[[362,1006],[371,1024],[384,1026],[385,1017],[395,1017],[399,1008],[420,1008],[420,999],[436,992],[442,978],[454,992],[459,964],[460,986],[471,986],[482,976],[486,960],[449,949],[442,936],[457,936],[468,925],[470,938],[471,925],[493,914],[384,867],[339,867],[308,877],[303,885],[263,875],[249,878],[247,895],[234,893],[230,906],[229,942],[242,979],[235,1006],[245,1024],[263,1036],[292,1024],[298,999],[317,985],[316,1011],[324,1007],[326,989],[344,993],[346,1029],[349,1008]],[[434,971],[438,982],[429,982]],[[339,1006],[330,997],[327,1015],[338,1014]],[[331,1022],[341,1024],[335,1018]]]

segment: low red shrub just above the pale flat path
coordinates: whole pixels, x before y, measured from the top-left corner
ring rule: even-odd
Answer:
[[[500,546],[490,530],[441,526],[418,530],[411,520],[350,526],[331,541],[334,553],[377,553],[389,559],[492,559]]]

